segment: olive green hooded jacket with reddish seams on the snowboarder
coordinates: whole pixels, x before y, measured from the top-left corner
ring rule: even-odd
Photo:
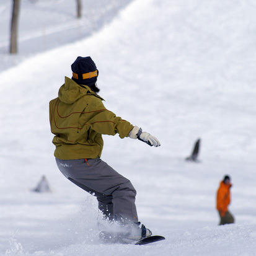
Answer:
[[[58,98],[50,101],[51,132],[55,135],[55,157],[81,159],[100,157],[102,135],[128,137],[133,129],[128,121],[107,110],[102,99],[87,86],[65,77]]]

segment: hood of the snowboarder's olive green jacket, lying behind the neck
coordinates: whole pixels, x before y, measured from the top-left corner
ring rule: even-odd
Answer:
[[[84,95],[90,94],[95,95],[102,99],[99,95],[95,94],[88,86],[79,86],[76,82],[74,82],[69,77],[65,76],[65,83],[60,87],[58,97],[61,102],[65,104],[73,104],[80,98],[84,97]],[[104,99],[102,99],[104,100]]]

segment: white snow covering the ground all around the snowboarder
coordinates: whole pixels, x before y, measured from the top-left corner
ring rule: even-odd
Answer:
[[[9,2],[0,1],[1,22]],[[55,15],[52,1],[24,2],[33,22],[51,17],[45,26],[55,32],[71,26],[72,1],[56,1],[63,8]],[[255,12],[254,0],[134,0],[82,39],[67,36],[30,54],[27,38],[19,55],[2,50],[0,255],[255,255]],[[100,244],[97,200],[56,167],[48,103],[77,56],[95,61],[105,106],[161,141],[153,148],[104,136],[102,159],[131,180],[139,220],[165,241]],[[197,138],[200,162],[184,161]],[[236,223],[218,226],[225,174]],[[51,193],[31,191],[42,175]]]

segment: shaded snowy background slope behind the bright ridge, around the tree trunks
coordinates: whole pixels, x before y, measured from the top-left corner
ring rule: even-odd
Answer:
[[[0,68],[7,69],[38,52],[75,42],[97,32],[132,0],[22,0],[19,14],[18,56],[9,55],[12,1],[0,0]]]

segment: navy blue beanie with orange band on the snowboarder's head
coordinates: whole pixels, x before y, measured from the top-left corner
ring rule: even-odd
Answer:
[[[73,71],[72,79],[77,84],[85,86],[93,86],[99,75],[99,71],[90,57],[77,57],[71,65],[71,70]]]

